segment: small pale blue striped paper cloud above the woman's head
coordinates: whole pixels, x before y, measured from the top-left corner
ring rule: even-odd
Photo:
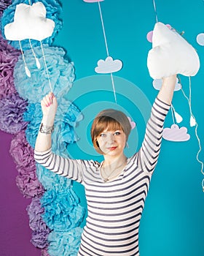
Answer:
[[[114,73],[122,69],[122,61],[119,59],[113,60],[111,56],[107,57],[105,61],[100,59],[97,64],[98,67],[95,67],[95,72],[99,74]]]

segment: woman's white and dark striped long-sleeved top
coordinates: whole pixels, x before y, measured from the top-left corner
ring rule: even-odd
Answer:
[[[85,186],[88,215],[78,256],[139,255],[138,228],[169,108],[155,99],[140,150],[109,182],[103,181],[100,162],[65,159],[51,149],[35,151],[36,161],[44,167]]]

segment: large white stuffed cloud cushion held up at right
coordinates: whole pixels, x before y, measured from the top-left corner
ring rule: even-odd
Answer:
[[[200,60],[192,45],[180,34],[158,22],[154,26],[147,67],[153,79],[175,74],[193,76],[200,68]]]

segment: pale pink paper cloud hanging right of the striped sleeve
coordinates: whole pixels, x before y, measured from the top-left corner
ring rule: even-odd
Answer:
[[[190,135],[187,133],[186,127],[179,128],[177,124],[173,124],[170,128],[163,130],[162,137],[170,141],[187,141]]]

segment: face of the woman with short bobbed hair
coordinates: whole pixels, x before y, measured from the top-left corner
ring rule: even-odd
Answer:
[[[125,133],[121,129],[117,129],[116,131],[106,129],[101,132],[97,141],[104,155],[108,154],[111,157],[117,157],[123,153],[126,143],[125,137]]]

